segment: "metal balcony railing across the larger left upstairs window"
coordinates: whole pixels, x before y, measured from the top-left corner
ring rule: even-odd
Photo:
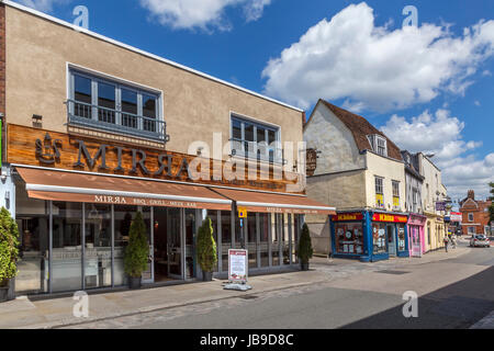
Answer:
[[[67,100],[67,123],[69,126],[88,127],[104,132],[167,143],[165,121],[139,116],[113,109]]]

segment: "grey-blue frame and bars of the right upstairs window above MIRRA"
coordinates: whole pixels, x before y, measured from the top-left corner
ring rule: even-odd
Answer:
[[[234,137],[234,122],[237,122],[240,124],[240,139]],[[251,125],[252,128],[252,139],[254,140],[246,140],[246,125]],[[259,152],[261,148],[258,146],[258,128],[265,129],[265,140],[267,143],[267,151],[266,152]],[[274,149],[269,144],[269,132],[274,133]],[[260,141],[260,143],[262,143]],[[234,143],[239,143],[240,148],[236,148],[234,146]],[[246,150],[246,143],[250,146],[250,143],[254,145],[254,150]],[[231,147],[231,155],[236,157],[242,157],[250,160],[258,160],[258,161],[266,161],[269,163],[282,163],[283,162],[283,156],[282,156],[282,149],[281,149],[281,127],[274,126],[272,124],[254,121],[249,117],[243,116],[240,114],[232,112],[229,114],[229,147]],[[235,152],[234,152],[235,150]],[[271,159],[271,151],[273,151],[273,157]]]

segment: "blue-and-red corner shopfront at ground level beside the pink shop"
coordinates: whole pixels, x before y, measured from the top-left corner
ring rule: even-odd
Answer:
[[[409,257],[407,222],[398,213],[338,212],[332,216],[333,256],[362,262]]]

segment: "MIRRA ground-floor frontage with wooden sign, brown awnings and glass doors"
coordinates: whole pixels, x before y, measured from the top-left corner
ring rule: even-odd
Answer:
[[[18,294],[127,285],[125,246],[137,212],[149,244],[143,284],[201,278],[195,244],[206,217],[217,245],[215,276],[226,278],[228,249],[248,249],[249,274],[295,269],[304,215],[335,213],[303,193],[277,191],[285,185],[279,181],[191,181],[187,155],[16,125],[9,132]],[[244,225],[239,207],[248,211]]]

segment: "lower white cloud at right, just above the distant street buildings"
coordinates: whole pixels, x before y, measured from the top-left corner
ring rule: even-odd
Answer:
[[[449,195],[463,199],[475,190],[476,197],[489,195],[489,182],[494,181],[494,154],[483,159],[469,155],[482,143],[462,137],[464,123],[447,110],[431,114],[425,111],[411,121],[393,115],[382,131],[402,149],[435,154],[433,161],[442,170],[442,182]]]

